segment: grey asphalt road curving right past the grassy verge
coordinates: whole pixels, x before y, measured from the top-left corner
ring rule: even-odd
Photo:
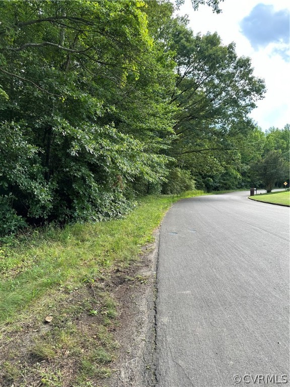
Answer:
[[[289,208],[248,195],[182,200],[164,218],[158,387],[290,385]]]

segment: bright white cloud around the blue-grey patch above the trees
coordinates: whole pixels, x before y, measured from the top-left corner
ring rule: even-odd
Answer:
[[[179,15],[189,15],[189,26],[194,33],[218,32],[224,44],[236,43],[239,56],[250,56],[254,67],[254,74],[264,78],[267,93],[262,101],[257,102],[257,108],[251,113],[258,125],[266,130],[270,126],[282,128],[290,123],[290,67],[278,53],[275,45],[269,44],[265,48],[255,51],[248,39],[242,34],[240,23],[248,16],[257,4],[272,5],[274,11],[290,9],[288,0],[225,0],[221,3],[222,14],[213,14],[211,9],[202,6],[194,12],[190,0],[177,12]]]

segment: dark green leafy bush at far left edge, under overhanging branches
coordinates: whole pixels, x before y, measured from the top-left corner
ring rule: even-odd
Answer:
[[[0,236],[26,225],[25,218],[47,218],[52,182],[44,178],[41,149],[30,144],[24,122],[0,124]]]

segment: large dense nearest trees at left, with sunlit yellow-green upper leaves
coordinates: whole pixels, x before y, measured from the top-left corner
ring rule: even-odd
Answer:
[[[134,0],[0,4],[0,234],[119,217],[135,180],[165,178],[174,62],[146,10]]]

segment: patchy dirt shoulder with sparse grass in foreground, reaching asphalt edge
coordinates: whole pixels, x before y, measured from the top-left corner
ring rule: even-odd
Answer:
[[[49,309],[50,299],[56,297],[52,293],[35,314],[19,316],[17,326],[4,326],[0,331],[0,387],[153,386],[158,237],[156,232],[155,242],[143,247],[137,263],[80,289],[58,291],[56,307]],[[117,301],[117,324],[105,313],[106,296],[99,292]],[[53,318],[47,323],[50,313]],[[100,326],[113,337],[108,343],[98,335]],[[97,346],[112,355],[113,361],[97,364],[101,369],[111,368],[112,376],[92,377],[90,384],[76,382],[82,359]]]

